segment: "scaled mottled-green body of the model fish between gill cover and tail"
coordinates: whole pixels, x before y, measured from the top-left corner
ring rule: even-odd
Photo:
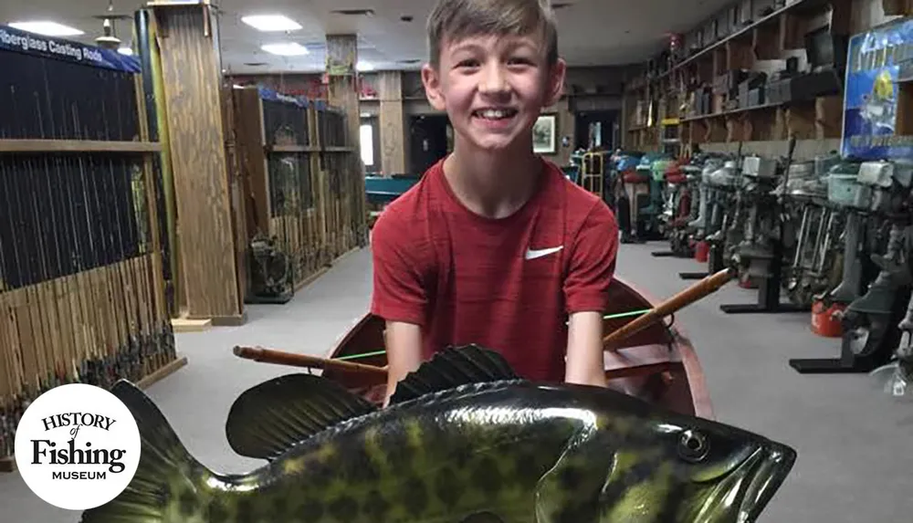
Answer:
[[[225,495],[211,500],[215,510],[188,504],[181,514],[207,522],[215,520],[205,517],[211,510],[225,521],[430,523],[458,522],[483,507],[507,515],[506,523],[514,513],[530,521],[536,483],[582,422],[543,419],[497,383],[475,388],[461,400],[443,395],[318,434],[262,471],[226,482]],[[260,488],[234,495],[245,485]],[[189,486],[187,493],[195,495]]]

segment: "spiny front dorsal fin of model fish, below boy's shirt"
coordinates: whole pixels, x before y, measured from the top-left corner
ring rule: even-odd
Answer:
[[[396,383],[390,404],[403,403],[430,392],[446,391],[460,385],[516,380],[519,376],[504,356],[478,345],[447,347]]]

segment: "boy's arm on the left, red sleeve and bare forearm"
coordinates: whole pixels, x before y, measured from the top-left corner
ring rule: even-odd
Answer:
[[[427,304],[421,268],[424,246],[416,245],[408,235],[415,226],[399,224],[396,217],[381,214],[371,238],[371,312],[386,320],[384,346],[388,367],[384,405],[395,392],[396,383],[415,371],[422,361],[422,327]]]

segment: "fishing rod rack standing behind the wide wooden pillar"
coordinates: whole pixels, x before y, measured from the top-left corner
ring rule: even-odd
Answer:
[[[367,243],[364,177],[345,112],[262,86],[232,89],[250,246],[247,303],[285,303]]]

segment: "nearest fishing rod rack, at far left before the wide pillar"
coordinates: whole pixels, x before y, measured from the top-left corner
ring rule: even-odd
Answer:
[[[0,78],[0,471],[8,472],[16,424],[42,392],[121,378],[148,386],[186,360],[174,348],[162,146],[150,133],[139,63],[0,30],[80,50],[78,60],[0,46],[0,68],[16,71]]]

